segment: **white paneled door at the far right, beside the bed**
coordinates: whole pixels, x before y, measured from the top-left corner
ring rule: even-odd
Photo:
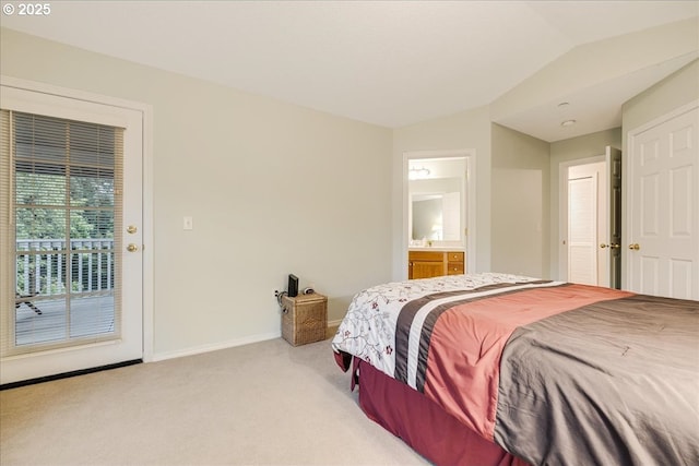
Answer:
[[[699,299],[698,132],[694,104],[629,133],[632,291]]]

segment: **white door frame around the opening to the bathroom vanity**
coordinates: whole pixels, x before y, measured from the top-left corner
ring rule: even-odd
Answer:
[[[403,223],[401,235],[401,276],[407,279],[407,249],[408,249],[408,165],[411,159],[415,158],[464,158],[466,172],[463,177],[465,184],[464,194],[466,202],[463,208],[466,208],[466,228],[469,234],[464,244],[466,263],[466,273],[476,272],[476,152],[473,148],[446,150],[446,151],[408,151],[403,153],[402,181],[403,181]],[[462,211],[463,212],[463,211]]]

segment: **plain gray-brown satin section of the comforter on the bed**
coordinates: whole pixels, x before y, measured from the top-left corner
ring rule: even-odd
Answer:
[[[494,437],[535,465],[699,465],[699,302],[637,295],[518,327]]]

